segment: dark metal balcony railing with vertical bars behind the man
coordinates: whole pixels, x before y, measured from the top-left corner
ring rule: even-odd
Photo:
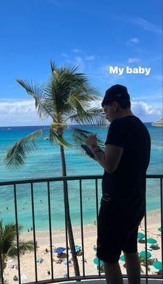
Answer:
[[[84,234],[83,234],[83,214],[82,214],[82,195],[81,195],[81,182],[82,180],[95,180],[95,192],[96,192],[96,210],[97,210],[97,215],[98,215],[98,189],[97,189],[97,181],[102,179],[103,175],[90,175],[90,176],[58,176],[58,177],[53,177],[53,178],[35,178],[35,179],[24,179],[24,180],[12,180],[12,181],[6,181],[6,182],[0,182],[0,187],[1,186],[7,186],[7,185],[12,185],[14,189],[14,194],[15,194],[15,220],[17,224],[17,247],[19,248],[19,234],[18,234],[18,212],[17,212],[17,184],[30,184],[30,189],[31,189],[31,198],[32,198],[32,226],[33,226],[33,240],[35,244],[35,281],[34,282],[28,282],[27,284],[36,284],[36,283],[42,283],[42,284],[48,284],[48,283],[58,283],[58,282],[64,282],[64,281],[79,281],[79,280],[86,280],[86,279],[100,279],[100,278],[105,278],[104,275],[101,275],[99,272],[99,275],[86,275],[85,274],[85,268],[84,268]],[[163,199],[162,199],[162,183],[163,183],[163,174],[147,174],[146,179],[159,179],[160,180],[160,214],[161,214],[161,227],[163,227]],[[80,193],[80,215],[81,215],[81,242],[82,242],[82,248],[83,248],[83,275],[82,276],[68,276],[66,278],[54,278],[53,276],[53,264],[52,264],[52,228],[51,228],[51,211],[50,211],[50,182],[64,182],[64,181],[69,181],[69,180],[79,180],[79,193]],[[37,254],[36,254],[36,238],[35,238],[35,208],[34,208],[34,201],[33,201],[33,186],[35,183],[41,183],[41,182],[46,182],[48,185],[48,216],[49,216],[49,230],[50,230],[50,258],[51,258],[51,275],[52,278],[46,279],[46,280],[39,280],[37,279]],[[145,243],[147,240],[147,233],[146,233],[146,213],[144,216],[144,227],[145,227]],[[67,229],[66,229],[66,234],[67,234]],[[66,237],[67,238],[67,237]],[[163,259],[163,240],[161,240],[161,255]],[[68,240],[66,240],[66,247],[68,247]],[[145,245],[145,250],[147,252],[147,243]],[[20,261],[19,261],[19,249],[18,249],[18,267],[20,267]],[[0,264],[2,263],[1,261],[1,246],[0,246]],[[67,256],[67,263],[68,263],[68,256]],[[68,265],[67,265],[68,269]],[[2,271],[2,266],[0,267],[0,270]],[[68,270],[69,271],[69,270]],[[21,284],[21,270],[19,268],[18,271],[19,274],[19,284]],[[123,274],[123,278],[126,278],[126,274]],[[163,275],[151,275],[148,274],[147,271],[147,256],[146,256],[146,274],[142,274],[141,278],[146,279],[146,283],[148,283],[148,278],[153,278],[153,279],[163,279]],[[0,276],[1,279],[1,276]],[[2,282],[3,283],[3,278]]]

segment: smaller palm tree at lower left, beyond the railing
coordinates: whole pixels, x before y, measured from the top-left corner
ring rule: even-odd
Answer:
[[[18,231],[22,229],[21,225],[18,225]],[[6,260],[8,257],[17,258],[17,227],[15,223],[6,224],[3,227],[2,220],[0,221],[0,246],[1,246],[1,261],[2,272],[6,268]],[[32,252],[34,250],[34,244],[32,240],[24,242],[19,240],[19,254],[23,255],[25,252]]]

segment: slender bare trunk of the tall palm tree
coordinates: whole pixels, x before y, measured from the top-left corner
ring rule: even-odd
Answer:
[[[62,168],[62,176],[66,176],[66,160],[64,155],[64,146],[60,145],[60,153],[61,153],[61,168]],[[74,243],[74,237],[73,237],[73,228],[71,225],[70,220],[70,209],[69,209],[69,201],[68,201],[68,184],[67,181],[64,181],[64,200],[65,200],[65,206],[66,206],[66,223],[68,228],[68,239],[70,243],[70,250],[73,257],[73,263],[74,263],[74,270],[75,270],[75,276],[79,276],[79,264],[77,261],[77,254],[75,251],[75,243]]]

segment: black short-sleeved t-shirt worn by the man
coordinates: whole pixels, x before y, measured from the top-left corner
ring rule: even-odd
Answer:
[[[124,151],[113,173],[104,171],[102,193],[116,202],[131,202],[145,196],[146,169],[151,138],[138,117],[128,115],[111,122],[105,144],[122,146]]]

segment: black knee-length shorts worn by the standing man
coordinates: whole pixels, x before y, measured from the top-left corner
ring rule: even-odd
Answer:
[[[145,212],[145,198],[130,205],[102,199],[97,223],[97,257],[116,263],[122,251],[137,252],[137,231]]]

